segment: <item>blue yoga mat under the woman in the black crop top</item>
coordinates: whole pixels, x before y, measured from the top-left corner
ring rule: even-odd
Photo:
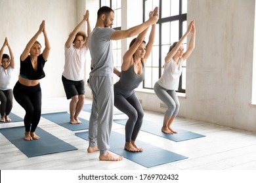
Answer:
[[[14,146],[16,146],[21,152],[28,156],[28,158],[42,156],[45,154],[53,154],[56,152],[77,150],[74,146],[58,139],[40,127],[37,127],[35,132],[40,137],[39,140],[25,141],[24,126],[0,129],[0,133],[12,142],[12,144],[14,144]]]

